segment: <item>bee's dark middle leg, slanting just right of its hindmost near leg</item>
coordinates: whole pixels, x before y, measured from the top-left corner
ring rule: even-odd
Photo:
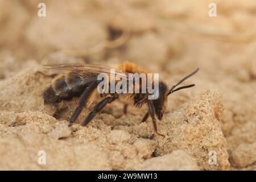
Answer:
[[[103,109],[103,107],[106,106],[106,104],[113,102],[118,98],[117,95],[114,95],[113,97],[106,97],[104,100],[100,101],[96,106],[94,106],[93,111],[88,114],[84,122],[82,123],[82,126],[88,125],[88,123],[94,118],[94,116]]]

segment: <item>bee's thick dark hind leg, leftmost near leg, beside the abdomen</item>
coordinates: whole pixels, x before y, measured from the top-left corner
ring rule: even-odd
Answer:
[[[73,113],[72,117],[69,119],[69,126],[72,125],[73,122],[76,121],[76,118],[79,116],[79,114],[82,111],[82,108],[86,106],[88,99],[90,98],[90,95],[93,93],[94,89],[96,89],[98,85],[98,82],[92,82],[84,92],[82,92],[80,98],[79,98],[79,106],[76,107],[75,112]]]

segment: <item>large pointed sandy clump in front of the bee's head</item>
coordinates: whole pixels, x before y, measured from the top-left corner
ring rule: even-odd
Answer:
[[[201,94],[183,104],[159,123],[162,132],[168,137],[159,139],[159,148],[155,154],[184,150],[197,160],[200,169],[229,169],[227,144],[220,126],[221,113],[222,98],[218,90]],[[209,159],[211,151],[217,154],[216,165],[205,160]]]

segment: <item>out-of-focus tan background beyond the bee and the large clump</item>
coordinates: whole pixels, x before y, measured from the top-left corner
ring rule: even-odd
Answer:
[[[256,140],[255,0],[0,0],[0,27],[1,80],[30,64],[130,60],[172,85],[200,67],[187,81],[196,88],[172,96],[168,111],[219,89],[229,150]]]

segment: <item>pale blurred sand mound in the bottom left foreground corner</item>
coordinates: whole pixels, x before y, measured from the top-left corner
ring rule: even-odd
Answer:
[[[108,155],[91,144],[73,145],[71,142],[63,142],[43,134],[1,138],[0,144],[0,154],[3,156],[0,161],[2,170],[111,169]],[[46,154],[46,164],[38,163],[40,151]]]

